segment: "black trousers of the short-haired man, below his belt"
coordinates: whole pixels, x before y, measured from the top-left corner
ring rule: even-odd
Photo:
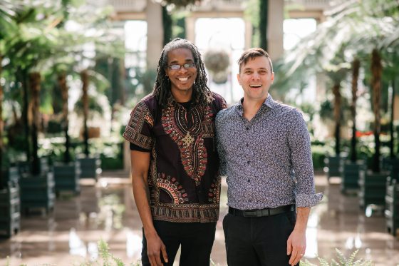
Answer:
[[[227,213],[223,219],[227,265],[288,266],[286,242],[295,221],[294,211],[254,218]]]

